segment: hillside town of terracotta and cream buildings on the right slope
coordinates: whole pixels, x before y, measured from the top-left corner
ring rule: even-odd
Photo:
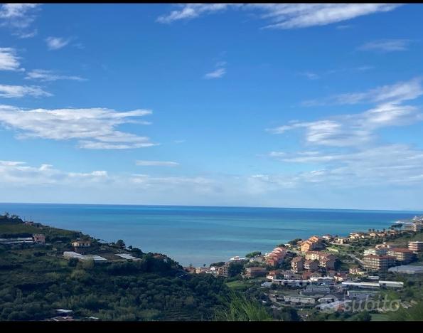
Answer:
[[[343,311],[351,302],[379,297],[382,290],[401,290],[404,282],[395,278],[398,274],[423,273],[423,241],[409,240],[406,246],[395,241],[419,236],[422,230],[423,216],[416,216],[388,230],[354,231],[343,237],[314,235],[279,244],[269,253],[249,253],[220,265],[185,269],[230,277],[235,266],[240,279],[259,283],[268,299],[262,302],[272,302],[274,308]]]

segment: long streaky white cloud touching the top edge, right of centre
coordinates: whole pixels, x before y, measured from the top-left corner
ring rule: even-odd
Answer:
[[[355,17],[392,11],[400,4],[185,4],[179,10],[157,18],[160,23],[198,18],[226,9],[259,11],[260,18],[272,21],[265,28],[306,28],[347,21]]]

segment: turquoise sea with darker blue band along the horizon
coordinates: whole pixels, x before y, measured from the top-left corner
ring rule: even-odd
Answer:
[[[355,211],[306,208],[121,206],[0,203],[28,220],[82,231],[107,241],[123,239],[144,252],[165,253],[181,265],[203,265],[269,252],[294,238],[340,236],[388,228],[416,211]]]

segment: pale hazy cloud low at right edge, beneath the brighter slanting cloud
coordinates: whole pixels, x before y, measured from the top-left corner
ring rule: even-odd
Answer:
[[[327,186],[415,185],[422,182],[423,151],[406,144],[358,148],[349,152],[271,152],[281,162],[321,164],[323,169],[293,177],[297,183],[321,182]]]

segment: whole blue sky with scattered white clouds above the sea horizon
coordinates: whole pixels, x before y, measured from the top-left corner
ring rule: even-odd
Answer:
[[[422,4],[1,4],[0,202],[422,210]]]

